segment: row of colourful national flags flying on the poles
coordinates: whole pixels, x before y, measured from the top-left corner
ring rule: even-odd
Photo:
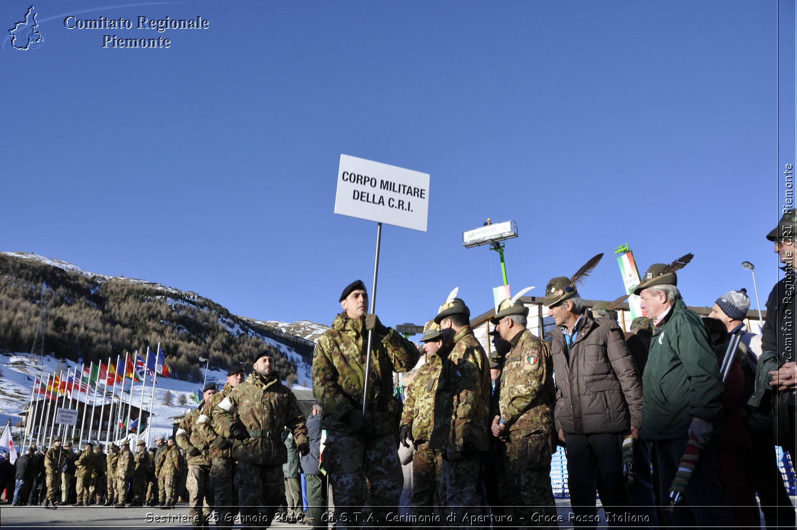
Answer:
[[[68,378],[61,378],[58,375],[45,379],[37,378],[33,386],[33,394],[45,399],[57,399],[66,395],[72,398],[73,392],[93,392],[96,385],[113,386],[114,383],[122,383],[124,378],[132,379],[133,382],[143,382],[148,374],[151,382],[155,382],[157,376],[171,377],[171,367],[166,362],[163,350],[158,346],[157,354],[147,356],[147,361],[136,352],[133,358],[127,358],[125,366],[114,366],[108,359],[108,364],[100,362],[92,366],[84,366],[83,372],[79,376],[69,375]],[[120,370],[121,368],[121,370]]]

